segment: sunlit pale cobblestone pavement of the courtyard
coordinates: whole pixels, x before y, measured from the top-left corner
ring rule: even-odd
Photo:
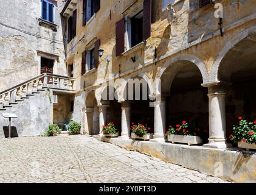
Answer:
[[[0,182],[225,182],[82,135],[0,139]]]

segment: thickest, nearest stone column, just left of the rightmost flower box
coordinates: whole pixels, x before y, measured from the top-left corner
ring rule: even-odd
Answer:
[[[208,86],[209,97],[209,143],[203,147],[224,149],[226,142],[225,92],[227,85]]]

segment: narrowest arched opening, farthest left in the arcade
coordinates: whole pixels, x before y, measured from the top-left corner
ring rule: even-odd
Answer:
[[[94,91],[91,91],[86,96],[85,130],[89,135],[98,135],[100,133],[99,109]]]

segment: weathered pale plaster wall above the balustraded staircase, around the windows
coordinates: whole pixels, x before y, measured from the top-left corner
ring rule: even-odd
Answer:
[[[61,0],[53,0],[57,32],[40,26],[40,0],[0,0],[0,91],[40,74],[37,51],[59,56],[55,74],[66,75],[65,51],[59,13]]]

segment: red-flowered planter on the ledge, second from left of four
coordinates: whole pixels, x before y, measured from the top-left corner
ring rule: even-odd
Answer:
[[[153,133],[150,133],[151,128],[144,124],[131,124],[131,138],[134,140],[150,140],[153,139]]]

